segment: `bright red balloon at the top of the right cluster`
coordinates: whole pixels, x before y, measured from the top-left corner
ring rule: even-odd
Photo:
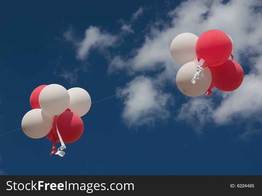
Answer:
[[[232,42],[228,35],[219,30],[209,30],[199,36],[196,43],[197,58],[204,59],[211,67],[227,61],[232,51]]]

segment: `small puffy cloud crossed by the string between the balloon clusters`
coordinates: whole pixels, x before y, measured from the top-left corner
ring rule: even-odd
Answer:
[[[170,117],[167,103],[171,100],[170,93],[164,93],[145,76],[137,76],[126,84],[123,89],[118,88],[121,99],[124,100],[122,118],[129,127],[142,125],[154,126],[157,121],[164,121]],[[131,90],[138,86],[146,86]]]

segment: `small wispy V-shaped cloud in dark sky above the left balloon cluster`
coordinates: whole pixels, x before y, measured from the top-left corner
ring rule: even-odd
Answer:
[[[108,32],[101,31],[99,27],[89,26],[85,30],[83,39],[79,39],[75,35],[75,30],[71,27],[64,32],[63,37],[76,48],[76,57],[79,60],[86,60],[90,51],[96,49],[104,51],[105,48],[116,46],[117,37]]]

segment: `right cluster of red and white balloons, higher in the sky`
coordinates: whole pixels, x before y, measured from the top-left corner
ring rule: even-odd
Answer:
[[[226,33],[209,30],[197,37],[177,35],[171,43],[173,59],[183,65],[177,72],[178,89],[190,97],[211,95],[212,88],[236,90],[244,79],[241,66],[233,61],[234,42]]]

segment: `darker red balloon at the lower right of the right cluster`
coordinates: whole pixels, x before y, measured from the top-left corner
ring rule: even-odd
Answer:
[[[236,90],[244,79],[244,71],[236,61],[227,62],[217,67],[210,67],[212,81],[219,90]]]

